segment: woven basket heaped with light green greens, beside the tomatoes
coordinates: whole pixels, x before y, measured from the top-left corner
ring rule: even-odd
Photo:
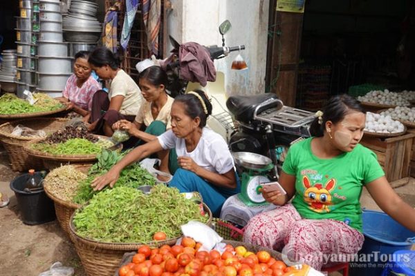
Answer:
[[[175,244],[181,225],[191,220],[210,224],[212,213],[186,199],[176,188],[154,186],[149,195],[129,187],[116,187],[95,195],[71,217],[71,239],[90,276],[112,276],[124,253],[142,244]],[[155,233],[165,239],[154,240]]]

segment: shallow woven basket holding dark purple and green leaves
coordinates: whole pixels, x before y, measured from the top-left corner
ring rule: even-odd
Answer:
[[[47,152],[34,150],[31,146],[42,142],[44,139],[37,139],[29,141],[25,144],[24,150],[28,155],[37,157],[43,160],[44,168],[53,170],[61,165],[76,164],[76,165],[93,165],[97,161],[97,155],[51,155]],[[122,144],[113,146],[111,150],[122,150]]]

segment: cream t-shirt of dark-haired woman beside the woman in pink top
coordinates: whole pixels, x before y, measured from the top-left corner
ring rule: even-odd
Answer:
[[[124,70],[118,70],[116,77],[109,83],[109,100],[111,101],[112,97],[119,95],[124,96],[120,113],[122,115],[136,115],[144,99],[136,81],[131,79]]]

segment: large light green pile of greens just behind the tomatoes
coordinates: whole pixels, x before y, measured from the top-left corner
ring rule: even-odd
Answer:
[[[167,239],[181,235],[188,221],[206,222],[198,204],[185,199],[176,188],[160,184],[149,195],[129,187],[104,190],[73,218],[77,235],[100,242],[151,242],[162,231]]]

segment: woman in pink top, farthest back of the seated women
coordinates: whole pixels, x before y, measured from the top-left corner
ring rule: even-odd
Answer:
[[[92,97],[94,93],[101,89],[100,84],[91,76],[91,66],[88,63],[89,52],[80,51],[75,55],[73,63],[73,74],[66,81],[66,86],[62,91],[59,101],[65,103],[67,110],[76,112],[88,121]]]

